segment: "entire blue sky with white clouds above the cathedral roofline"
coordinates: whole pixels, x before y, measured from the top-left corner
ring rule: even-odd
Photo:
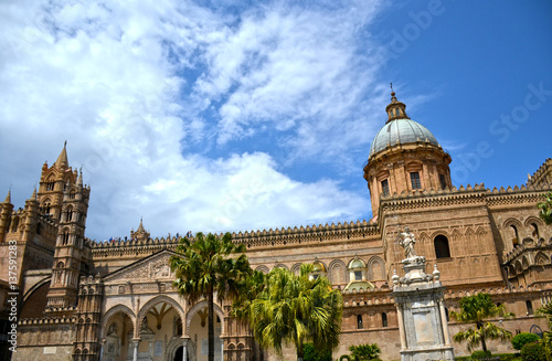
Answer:
[[[0,3],[0,193],[67,140],[87,235],[370,219],[389,83],[456,185],[551,157],[550,1]]]

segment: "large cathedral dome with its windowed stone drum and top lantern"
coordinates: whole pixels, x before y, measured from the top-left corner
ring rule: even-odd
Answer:
[[[372,141],[364,167],[374,217],[384,197],[453,187],[450,156],[426,127],[406,115],[406,105],[391,91],[388,120]]]

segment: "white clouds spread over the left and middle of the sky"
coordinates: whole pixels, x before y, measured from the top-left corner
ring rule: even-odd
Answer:
[[[350,160],[347,151],[374,130],[364,98],[380,94],[379,64],[359,60],[355,33],[374,4],[278,3],[241,19],[178,1],[1,8],[0,190],[13,183],[18,204],[67,139],[70,163],[83,166],[93,188],[93,238],[127,234],[140,215],[162,235],[349,220],[368,210],[337,180],[294,180],[268,148],[221,158],[193,149],[270,129],[290,147],[290,161]]]

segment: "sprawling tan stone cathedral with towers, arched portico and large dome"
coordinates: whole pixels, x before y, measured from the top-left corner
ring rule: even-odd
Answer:
[[[363,168],[373,219],[338,224],[234,233],[252,267],[298,272],[315,264],[343,295],[341,342],[378,343],[382,360],[402,348],[393,279],[403,272],[397,236],[407,226],[426,272],[440,272],[450,335],[466,328],[448,311],[461,297],[489,293],[516,314],[497,319],[516,332],[542,332],[534,311],[552,300],[552,226],[538,202],[552,189],[552,159],[521,187],[487,189],[452,183],[450,155],[391,93],[386,120]],[[152,237],[140,221],[112,242],[86,237],[91,187],[70,166],[66,147],[42,166],[40,185],[22,208],[8,192],[0,203],[0,359],[203,361],[208,359],[206,301],[189,302],[172,288],[168,259],[177,237]],[[217,360],[279,360],[261,350],[247,325],[215,305]],[[452,343],[456,355],[469,354]],[[493,352],[512,352],[492,343]],[[295,352],[285,349],[285,359]]]

